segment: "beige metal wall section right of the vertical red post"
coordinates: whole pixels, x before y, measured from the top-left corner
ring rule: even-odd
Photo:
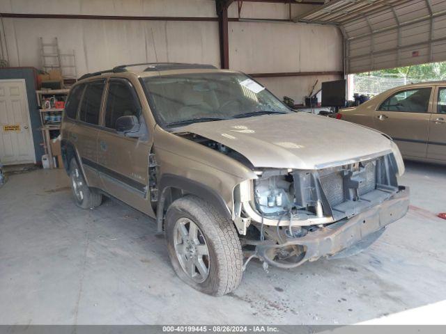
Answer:
[[[298,4],[290,10],[284,3],[243,1],[240,22],[229,22],[231,69],[259,74],[255,76],[257,81],[280,98],[293,98],[296,104],[303,102],[316,81],[314,92],[323,81],[340,79],[344,68],[339,29],[290,22],[290,18],[314,8],[318,6]],[[237,1],[228,12],[230,18],[239,17]],[[274,75],[270,77],[271,73]]]

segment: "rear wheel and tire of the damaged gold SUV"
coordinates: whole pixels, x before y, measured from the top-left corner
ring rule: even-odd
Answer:
[[[75,203],[82,209],[93,209],[102,203],[102,195],[91,189],[85,182],[84,175],[75,158],[70,161],[70,180]]]

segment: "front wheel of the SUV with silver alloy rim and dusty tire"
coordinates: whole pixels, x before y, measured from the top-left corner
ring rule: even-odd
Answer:
[[[185,196],[169,206],[165,224],[169,257],[185,283],[213,296],[238,287],[243,253],[231,219],[208,202]]]

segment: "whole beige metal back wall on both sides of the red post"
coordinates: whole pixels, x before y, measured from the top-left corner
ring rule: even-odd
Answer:
[[[291,15],[312,8],[293,5]],[[38,38],[57,37],[62,52],[75,49],[78,74],[120,63],[157,61],[220,67],[215,0],[0,0],[0,13],[61,16],[1,17],[1,47],[7,56],[3,57],[8,58],[11,66],[40,68]],[[63,15],[113,15],[127,19],[67,19]],[[245,2],[239,20],[238,4],[234,2],[229,7],[229,63],[231,69],[249,74],[284,72],[283,76],[257,79],[279,97],[288,95],[301,103],[316,79],[319,86],[322,81],[339,78],[343,70],[342,36],[333,26],[252,21],[289,21],[289,15],[289,5],[283,3]],[[318,74],[299,76],[295,72]]]

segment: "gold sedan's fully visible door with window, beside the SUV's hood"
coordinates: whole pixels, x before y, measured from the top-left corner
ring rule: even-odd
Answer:
[[[375,111],[375,128],[391,136],[405,157],[425,158],[432,88],[394,93]]]

